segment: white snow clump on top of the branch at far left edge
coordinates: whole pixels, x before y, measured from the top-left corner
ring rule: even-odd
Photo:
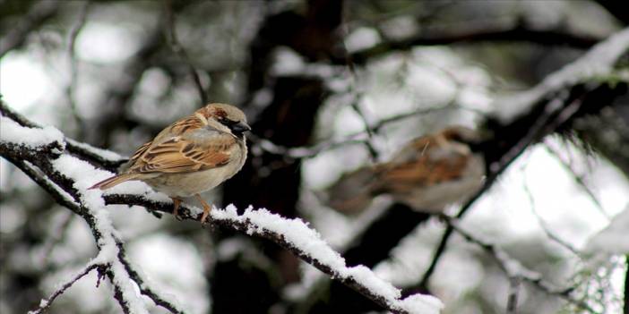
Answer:
[[[12,119],[0,116],[0,141],[12,142],[37,149],[58,142],[65,147],[64,134],[52,126],[42,129],[24,127]]]

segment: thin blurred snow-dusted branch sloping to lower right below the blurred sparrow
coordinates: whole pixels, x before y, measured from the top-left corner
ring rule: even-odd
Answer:
[[[526,267],[523,267],[519,261],[512,259],[504,250],[497,247],[494,243],[486,242],[484,240],[480,240],[477,236],[472,235],[471,233],[465,231],[459,225],[459,220],[455,217],[440,215],[440,217],[444,220],[444,222],[451,226],[452,229],[461,234],[463,238],[465,238],[468,242],[472,242],[477,244],[481,249],[485,250],[489,256],[491,256],[495,262],[498,264],[506,276],[509,277],[510,280],[523,280],[532,284],[534,287],[538,288],[544,293],[549,295],[555,295],[568,301],[582,310],[587,310],[588,312],[594,314],[598,313],[597,311],[590,308],[588,304],[584,301],[577,300],[573,298],[571,293],[573,292],[573,287],[567,289],[558,289],[554,286],[554,284],[548,283],[543,280],[539,273],[531,271]]]

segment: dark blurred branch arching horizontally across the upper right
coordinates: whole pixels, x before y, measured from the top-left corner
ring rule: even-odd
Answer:
[[[569,30],[543,30],[527,25],[524,21],[464,21],[441,27],[423,28],[415,36],[402,40],[388,40],[374,47],[354,52],[351,55],[356,64],[365,64],[370,58],[389,54],[396,50],[408,50],[418,46],[447,45],[464,42],[530,42],[543,46],[565,45],[578,48],[594,46],[600,38]],[[345,58],[333,60],[342,64]]]

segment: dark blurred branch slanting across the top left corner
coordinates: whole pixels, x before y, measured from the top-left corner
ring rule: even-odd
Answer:
[[[21,47],[32,31],[55,17],[60,4],[62,4],[60,1],[47,0],[33,4],[30,11],[21,17],[16,25],[12,25],[0,40],[0,58],[9,51]]]

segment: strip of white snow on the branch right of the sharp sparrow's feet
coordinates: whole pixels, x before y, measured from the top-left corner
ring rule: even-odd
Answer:
[[[444,305],[435,297],[415,294],[401,300],[401,291],[384,281],[375,273],[362,265],[347,267],[345,259],[332,250],[321,235],[311,229],[299,218],[286,219],[273,214],[265,208],[254,210],[246,208],[243,215],[238,215],[237,208],[228,205],[225,209],[213,208],[210,212],[215,220],[227,220],[249,225],[248,234],[271,232],[281,234],[286,242],[315,259],[326,267],[332,268],[334,276],[339,279],[354,279],[366,287],[371,293],[382,296],[392,308],[409,311],[409,313],[439,313]]]

